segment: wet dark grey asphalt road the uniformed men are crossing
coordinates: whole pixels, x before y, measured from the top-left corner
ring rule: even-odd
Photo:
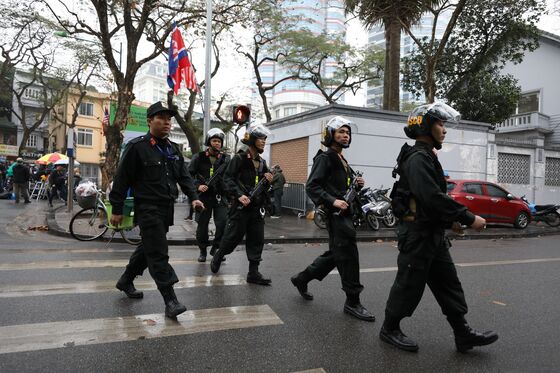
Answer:
[[[25,230],[43,224],[43,219],[39,204],[15,206],[0,201],[1,372],[554,372],[560,365],[556,351],[559,236],[454,242],[452,255],[469,304],[467,320],[475,328],[500,334],[495,344],[468,354],[455,352],[451,329],[429,290],[414,316],[402,323],[403,331],[419,343],[419,352],[406,353],[379,341],[384,305],[395,276],[394,242],[359,244],[365,286],[362,303],[377,316],[375,323],[342,312],[344,294],[337,274],[310,284],[315,295],[311,302],[304,301],[289,282],[292,274],[325,250],[324,244],[273,244],[266,246],[261,265],[261,272],[273,280],[271,287],[241,280],[176,292],[189,310],[267,305],[281,323],[169,337],[155,333],[151,339],[91,345],[73,343],[70,330],[67,347],[5,352],[2,348],[9,346],[6,339],[1,342],[2,330],[8,327],[62,322],[53,325],[64,329],[73,320],[103,323],[107,318],[163,312],[155,290],[145,291],[143,300],[123,298],[110,288],[84,294],[69,288],[59,295],[8,296],[10,288],[24,285],[33,289],[45,284],[116,281],[121,267],[89,264],[125,261],[132,250],[126,244],[77,242]],[[174,246],[170,256],[184,260],[174,266],[180,278],[211,275],[208,264],[185,262],[196,259],[194,247]],[[77,261],[83,263],[81,267],[53,268],[55,263]],[[21,269],[29,263],[36,267]],[[247,260],[240,248],[228,257],[219,275],[243,279],[246,271]],[[137,281],[149,280],[145,273]],[[33,341],[25,333],[21,338]]]

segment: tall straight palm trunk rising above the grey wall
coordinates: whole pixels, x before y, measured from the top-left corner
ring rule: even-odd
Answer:
[[[388,85],[387,107],[384,109],[400,110],[400,71],[401,71],[401,25],[398,19],[389,23],[389,70],[385,74]]]

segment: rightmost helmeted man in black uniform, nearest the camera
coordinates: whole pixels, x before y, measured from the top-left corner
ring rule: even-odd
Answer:
[[[398,272],[391,288],[380,338],[406,351],[417,351],[416,342],[400,329],[400,321],[412,316],[426,284],[434,294],[455,334],[457,350],[495,342],[498,335],[470,328],[465,320],[467,303],[457,271],[449,254],[451,243],[446,227],[460,224],[476,230],[486,221],[447,195],[447,182],[433,149],[441,149],[447,133],[446,122],[458,122],[457,111],[443,103],[414,109],[405,133],[416,139],[405,144],[397,159],[400,179],[393,187],[393,207],[400,217],[397,227]]]

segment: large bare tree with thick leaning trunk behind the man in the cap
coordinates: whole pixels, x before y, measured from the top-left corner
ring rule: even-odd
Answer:
[[[138,69],[146,62],[166,52],[165,40],[172,31],[172,21],[178,25],[195,25],[197,20],[205,17],[205,5],[202,2],[187,3],[182,0],[90,0],[95,11],[95,19],[85,19],[73,11],[65,0],[58,2],[43,0],[50,17],[61,30],[70,36],[85,35],[100,44],[109,70],[113,76],[116,92],[116,113],[112,126],[108,128],[107,153],[101,167],[103,186],[114,177],[117,169],[120,148],[123,141],[122,131],[126,128],[128,113],[134,100],[134,80]],[[56,6],[55,6],[56,5]],[[236,13],[241,13],[240,2],[222,0],[215,6],[216,22],[235,20]],[[122,66],[117,64],[113,45],[123,37],[125,43]],[[141,41],[150,43],[148,48]],[[144,57],[139,57],[145,55]]]

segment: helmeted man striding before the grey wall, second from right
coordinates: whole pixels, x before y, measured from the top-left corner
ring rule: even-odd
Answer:
[[[312,300],[308,292],[309,281],[323,280],[335,267],[340,273],[342,290],[346,293],[344,312],[364,321],[375,321],[375,317],[360,303],[360,263],[356,230],[352,223],[351,207],[344,195],[353,182],[354,173],[342,150],[350,146],[352,127],[355,125],[343,117],[334,117],[327,123],[322,144],[326,152],[319,150],[313,159],[313,167],[307,179],[307,195],[316,206],[322,205],[327,215],[329,250],[317,257],[303,272],[291,278],[304,299]],[[356,180],[361,188],[364,180]]]

